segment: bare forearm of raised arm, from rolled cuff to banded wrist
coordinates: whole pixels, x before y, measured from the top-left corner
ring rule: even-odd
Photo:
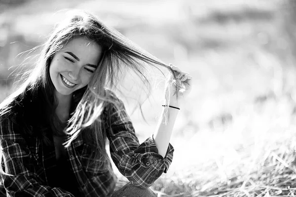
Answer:
[[[175,97],[170,99],[170,106],[178,107],[177,99]],[[172,107],[168,108],[168,114],[165,113],[165,108],[163,107],[156,130],[153,134],[154,142],[158,149],[158,153],[164,158],[169,146],[171,135],[173,132],[173,127],[179,113],[179,109]],[[166,117],[168,117],[166,123]]]

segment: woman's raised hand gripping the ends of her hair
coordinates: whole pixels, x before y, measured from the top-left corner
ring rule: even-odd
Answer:
[[[178,66],[173,64],[170,64],[170,66],[175,71],[177,79],[181,84],[181,89],[176,93],[176,80],[171,75],[165,85],[165,100],[169,99],[169,105],[171,106],[180,107],[191,91],[192,76],[188,72],[182,71]]]

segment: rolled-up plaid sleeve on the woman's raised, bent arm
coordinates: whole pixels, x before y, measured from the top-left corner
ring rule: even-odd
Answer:
[[[107,129],[110,153],[114,164],[134,186],[150,187],[163,172],[167,172],[173,160],[174,148],[169,144],[165,157],[158,154],[153,135],[142,144],[135,134],[124,104],[118,100],[118,108],[109,107],[111,118]]]

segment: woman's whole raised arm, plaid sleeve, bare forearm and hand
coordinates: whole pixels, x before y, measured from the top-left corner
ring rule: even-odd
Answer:
[[[170,105],[180,107],[182,98],[189,92],[191,76],[182,72],[176,66],[172,66],[172,69],[176,70],[177,75],[180,74],[180,80],[186,83],[186,90],[180,90],[177,97],[174,94],[175,86],[169,85],[166,87],[166,98],[170,98]],[[177,71],[178,69],[180,71]],[[107,110],[109,111],[107,117],[110,117],[110,120],[107,121],[106,131],[110,140],[111,158],[119,171],[133,185],[148,188],[163,172],[167,172],[172,163],[174,148],[169,141],[178,109],[171,107],[168,109],[169,113],[166,114],[169,115],[167,124],[164,123],[165,118],[160,119],[155,139],[149,137],[142,144],[139,144],[123,102],[117,99],[115,95],[113,97],[118,101],[119,111],[112,105]],[[158,145],[155,144],[156,142]],[[159,154],[160,151],[161,154]]]

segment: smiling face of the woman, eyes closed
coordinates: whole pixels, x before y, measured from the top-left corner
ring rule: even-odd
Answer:
[[[51,60],[49,74],[57,93],[67,96],[85,87],[96,70],[102,48],[94,41],[77,37]]]

